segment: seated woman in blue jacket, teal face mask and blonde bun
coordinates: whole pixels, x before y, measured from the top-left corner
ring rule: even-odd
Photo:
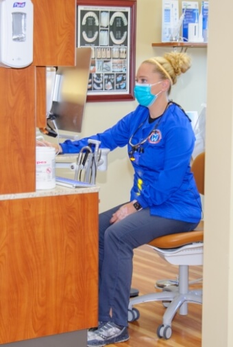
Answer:
[[[99,326],[88,331],[88,346],[129,339],[127,307],[133,249],[159,236],[193,230],[201,201],[191,173],[195,136],[181,107],[169,101],[177,76],[191,67],[182,52],[145,60],[136,74],[138,107],[116,125],[92,137],[114,150],[127,145],[134,184],[130,202],[99,215]],[[87,138],[59,145],[76,153]]]

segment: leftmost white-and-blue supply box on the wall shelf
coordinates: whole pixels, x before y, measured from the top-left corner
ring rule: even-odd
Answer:
[[[179,21],[179,1],[162,0],[162,42],[172,41],[171,32]]]

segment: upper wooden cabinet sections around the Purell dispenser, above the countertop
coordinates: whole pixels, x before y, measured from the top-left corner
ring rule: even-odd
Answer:
[[[36,126],[46,125],[45,67],[75,65],[75,0],[32,0],[34,60],[0,67],[0,194],[36,189]]]

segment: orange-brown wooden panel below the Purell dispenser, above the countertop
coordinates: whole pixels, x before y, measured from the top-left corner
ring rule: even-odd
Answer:
[[[36,188],[36,67],[0,67],[0,194]]]

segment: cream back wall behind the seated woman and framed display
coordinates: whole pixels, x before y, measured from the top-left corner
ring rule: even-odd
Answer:
[[[137,1],[136,68],[143,60],[173,49],[151,47],[151,43],[161,41],[161,4],[160,0]],[[184,76],[180,76],[173,87],[171,99],[180,103],[186,111],[200,111],[201,104],[206,102],[206,48],[189,48],[188,54],[192,57],[193,66]],[[86,137],[105,130],[132,111],[136,104],[136,101],[88,102],[80,136]],[[101,188],[100,211],[129,199],[132,169],[126,148],[116,149],[108,155],[108,172],[97,173],[97,184]]]

